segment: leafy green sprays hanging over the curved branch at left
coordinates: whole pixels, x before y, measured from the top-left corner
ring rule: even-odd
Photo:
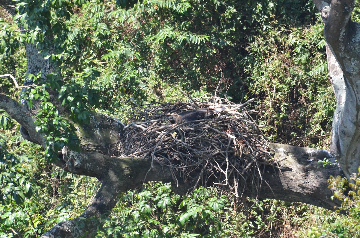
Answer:
[[[94,72],[94,74],[98,75],[98,72]],[[87,76],[91,78],[91,74]],[[37,78],[28,74],[28,79],[33,82],[36,82]],[[57,107],[51,102],[49,88],[59,90],[59,99],[64,97],[64,104],[67,102],[66,105],[71,110],[74,121],[86,123],[89,121],[90,114],[81,102],[82,97],[72,97],[71,89],[67,90],[67,86],[64,85],[62,78],[57,73],[49,74],[47,78],[46,83],[34,88],[27,88],[21,96],[22,100],[27,101],[30,108],[33,106],[33,100],[37,100],[39,110],[35,120],[36,130],[47,135],[45,157],[48,162],[53,162],[58,159],[57,151],[64,146],[75,151],[79,151],[80,147],[74,126],[63,115],[59,115]],[[86,91],[83,92],[86,93]]]

